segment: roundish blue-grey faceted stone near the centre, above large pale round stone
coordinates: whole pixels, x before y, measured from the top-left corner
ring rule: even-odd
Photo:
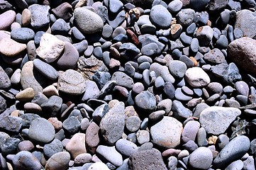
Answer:
[[[152,112],[156,108],[156,99],[149,91],[143,91],[135,96],[135,105],[145,112]]]

